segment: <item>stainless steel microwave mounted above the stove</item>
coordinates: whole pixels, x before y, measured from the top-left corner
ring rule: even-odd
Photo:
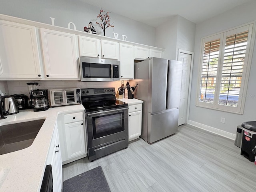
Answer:
[[[80,57],[81,81],[118,81],[120,62],[110,59]]]

